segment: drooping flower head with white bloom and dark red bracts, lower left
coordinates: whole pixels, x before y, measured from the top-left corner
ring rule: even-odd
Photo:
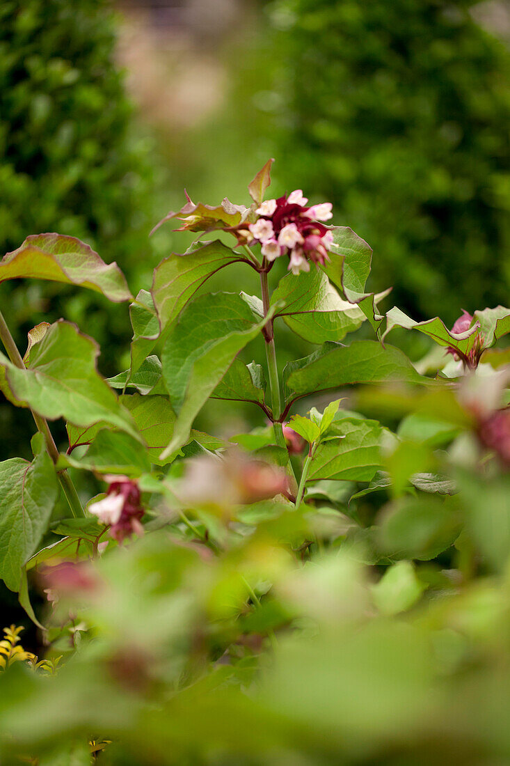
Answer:
[[[106,497],[89,506],[90,513],[97,516],[100,522],[110,525],[110,536],[117,542],[123,542],[126,537],[135,532],[143,534],[140,519],[143,509],[140,505],[140,490],[136,481],[128,476],[105,476],[109,483]]]

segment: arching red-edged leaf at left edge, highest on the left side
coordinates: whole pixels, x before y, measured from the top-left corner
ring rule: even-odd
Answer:
[[[0,282],[31,277],[88,287],[119,302],[131,300],[117,264],[105,264],[88,244],[63,234],[31,234],[0,261]]]

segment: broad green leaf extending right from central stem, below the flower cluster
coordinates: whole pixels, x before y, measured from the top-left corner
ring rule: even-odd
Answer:
[[[377,341],[364,340],[344,346],[325,343],[313,354],[289,362],[283,370],[286,402],[294,401],[316,391],[339,388],[354,383],[428,383],[418,375],[407,356]]]

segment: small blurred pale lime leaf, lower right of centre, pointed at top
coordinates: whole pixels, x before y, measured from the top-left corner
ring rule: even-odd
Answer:
[[[414,606],[426,588],[410,561],[398,561],[387,568],[378,584],[372,585],[371,594],[381,614],[391,617]]]

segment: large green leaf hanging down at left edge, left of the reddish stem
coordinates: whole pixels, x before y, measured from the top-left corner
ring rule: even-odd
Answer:
[[[58,485],[43,450],[31,463],[14,457],[0,463],[0,578],[19,591],[22,570],[46,532]]]

